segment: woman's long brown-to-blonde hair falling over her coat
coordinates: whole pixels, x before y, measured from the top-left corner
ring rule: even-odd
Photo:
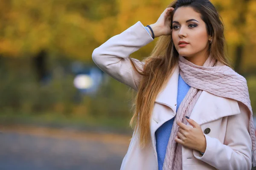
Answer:
[[[230,66],[224,54],[224,26],[212,3],[209,0],[175,0],[168,6],[175,8],[172,17],[177,8],[182,6],[191,7],[201,14],[201,18],[207,26],[207,33],[212,36],[209,53],[219,62]],[[170,27],[172,29],[172,24]],[[145,147],[150,142],[150,120],[154,101],[172,75],[172,71],[178,63],[178,57],[179,54],[174,46],[172,35],[169,35],[159,37],[150,56],[143,60],[145,62],[143,69],[139,69],[136,61],[130,58],[133,68],[143,77],[133,101],[134,115],[130,122],[134,132],[140,136],[141,147]]]

